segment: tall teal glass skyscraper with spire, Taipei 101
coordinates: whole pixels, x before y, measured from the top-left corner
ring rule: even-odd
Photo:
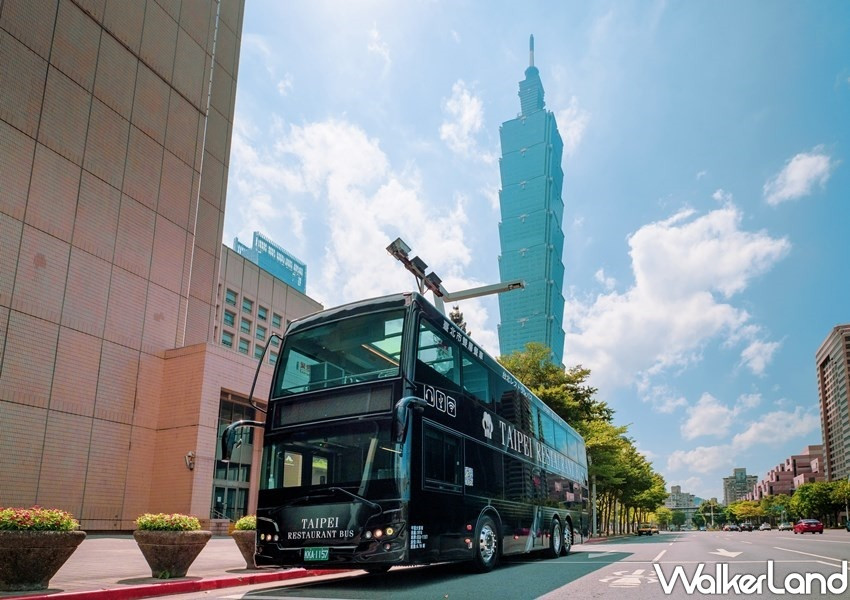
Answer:
[[[519,82],[519,116],[502,123],[499,161],[499,274],[502,281],[525,280],[525,289],[499,295],[501,354],[539,342],[560,365],[564,355],[564,232],[561,198],[563,141],[555,115],[546,110],[540,72],[534,66],[534,36],[529,65]]]

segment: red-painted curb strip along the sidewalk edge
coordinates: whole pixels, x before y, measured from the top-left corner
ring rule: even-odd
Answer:
[[[317,577],[319,575],[331,575],[349,570],[350,569],[293,569],[282,572],[276,571],[274,573],[253,573],[249,575],[209,577],[205,579],[184,579],[181,581],[163,581],[163,583],[129,585],[127,587],[119,588],[102,588],[99,590],[76,592],[56,592],[51,594],[25,594],[18,596],[3,596],[2,598],[3,600],[48,600],[51,598],[59,598],[60,600],[137,600],[139,598],[150,598],[152,596],[206,592],[209,590],[218,590],[241,585],[256,585],[260,583],[285,581],[287,579]]]

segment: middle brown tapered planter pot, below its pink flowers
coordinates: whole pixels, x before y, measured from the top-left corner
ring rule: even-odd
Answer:
[[[185,577],[186,571],[212,537],[210,531],[143,531],[133,537],[151,568],[151,577]]]

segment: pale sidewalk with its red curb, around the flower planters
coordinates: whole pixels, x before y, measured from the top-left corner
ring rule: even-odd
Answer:
[[[154,579],[132,535],[90,535],[50,579],[47,590],[0,592],[0,600],[134,600],[203,592],[239,585],[273,583],[334,573],[333,570],[246,569],[229,536],[213,537],[189,567],[186,577]]]

